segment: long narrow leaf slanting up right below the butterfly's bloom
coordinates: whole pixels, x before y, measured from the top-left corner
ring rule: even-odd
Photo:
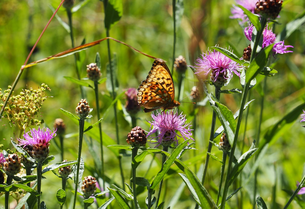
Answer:
[[[182,142],[170,155],[170,157],[165,161],[165,163],[163,164],[163,168],[159,171],[159,173],[156,175],[156,177],[154,178],[154,180],[152,181],[152,184],[150,185],[151,190],[155,190],[156,187],[159,185],[159,183],[161,182],[161,180],[163,179],[164,175],[166,174],[166,172],[168,171],[168,169],[170,168],[170,166],[174,163],[176,157],[178,156],[178,154],[181,152],[181,150],[184,148],[184,146],[186,145],[186,143],[188,142],[188,140]]]

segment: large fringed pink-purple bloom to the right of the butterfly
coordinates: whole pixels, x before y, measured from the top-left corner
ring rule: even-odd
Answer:
[[[198,67],[195,67],[197,70],[196,73],[204,72],[204,74],[207,75],[211,70],[215,70],[216,76],[214,82],[217,80],[217,77],[220,73],[225,72],[228,72],[228,78],[231,78],[233,73],[240,77],[239,71],[241,70],[242,66],[221,52],[218,52],[214,49],[213,52],[208,51],[207,53],[202,53],[201,56],[202,59],[196,59],[198,62],[196,63]],[[228,79],[226,77],[224,78]]]

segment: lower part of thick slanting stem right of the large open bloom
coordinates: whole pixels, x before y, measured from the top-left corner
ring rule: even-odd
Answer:
[[[239,115],[238,115],[238,118],[237,118],[236,129],[235,129],[235,133],[234,133],[234,140],[233,140],[233,144],[232,144],[230,158],[229,158],[229,161],[228,161],[227,175],[226,175],[226,180],[224,182],[224,190],[223,190],[223,193],[222,193],[221,207],[220,207],[221,209],[224,209],[224,205],[225,205],[225,201],[226,201],[226,197],[227,197],[227,193],[228,193],[228,188],[230,186],[229,185],[229,177],[230,177],[230,174],[231,174],[234,152],[235,152],[235,148],[236,148],[236,144],[237,144],[239,128],[240,128],[240,124],[241,124],[241,121],[242,121],[242,113],[244,111],[244,106],[245,106],[245,103],[246,103],[246,98],[247,98],[247,93],[248,93],[248,90],[249,90],[249,85],[250,85],[250,81],[245,84],[244,90],[242,91],[242,99],[241,99],[240,108],[239,108]]]

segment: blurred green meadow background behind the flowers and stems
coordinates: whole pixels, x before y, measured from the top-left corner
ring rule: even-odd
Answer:
[[[76,4],[80,1],[76,1]],[[188,65],[194,65],[200,53],[206,52],[208,47],[219,45],[220,47],[234,49],[234,52],[241,57],[243,49],[249,45],[249,41],[243,34],[244,28],[241,27],[237,20],[230,19],[230,9],[235,2],[230,1],[185,1],[184,14],[180,27],[177,28],[177,45],[175,55],[183,55],[187,59]],[[29,50],[36,42],[39,34],[45,27],[49,18],[52,16],[52,8],[56,8],[59,1],[20,1],[20,0],[1,0],[0,1],[0,74],[1,82],[0,88],[2,91],[8,85],[12,85],[20,67],[26,60]],[[296,15],[304,10],[305,2],[303,0],[287,0],[283,3],[283,8],[280,13],[280,18],[276,25],[272,25],[274,33],[280,33],[285,24],[292,20]],[[60,8],[57,15],[61,20],[67,23],[67,15],[64,8]],[[73,30],[75,36],[75,45],[81,45],[85,38],[86,42],[95,41],[106,37],[104,27],[104,11],[101,1],[87,1],[87,4],[73,14]],[[272,62],[276,61],[273,66],[278,70],[278,74],[274,77],[267,78],[267,89],[264,101],[263,122],[261,124],[262,134],[276,123],[285,113],[292,110],[294,107],[303,103],[305,100],[304,88],[304,66],[305,66],[305,25],[299,27],[289,38],[285,40],[285,45],[294,46],[293,53],[284,55],[276,55],[276,59],[270,58]],[[123,16],[120,21],[114,25],[110,30],[110,36],[123,41],[136,49],[145,52],[151,56],[159,57],[167,61],[168,67],[171,69],[173,65],[172,51],[173,51],[173,19],[172,19],[172,2],[171,1],[123,1]],[[110,40],[111,52],[117,54],[118,60],[118,80],[119,90],[118,94],[126,88],[138,88],[138,85],[144,80],[151,68],[153,60],[143,56],[132,49]],[[71,48],[70,35],[66,29],[55,18],[50,23],[49,27],[38,43],[37,52],[35,52],[30,61],[39,60],[53,54],[62,52]],[[102,41],[99,45],[91,47],[83,53],[86,58],[82,67],[81,77],[86,77],[86,65],[95,61],[95,54],[99,52],[101,56],[101,72],[102,77],[106,76],[107,45],[106,41]],[[20,81],[15,89],[15,94],[19,93],[24,88],[38,88],[41,83],[45,83],[52,89],[47,92],[50,96],[45,101],[41,108],[41,113],[38,114],[38,119],[43,118],[45,126],[53,127],[56,118],[63,118],[66,124],[66,139],[64,141],[66,152],[65,159],[76,160],[77,158],[77,144],[78,144],[78,125],[74,124],[70,118],[66,117],[59,108],[74,113],[77,103],[80,101],[81,95],[79,87],[69,81],[63,76],[76,77],[74,56],[67,56],[60,59],[54,59],[24,70]],[[174,72],[173,79],[177,90],[177,74]],[[193,85],[196,85],[196,78],[192,71],[188,68],[186,72],[183,95],[190,94]],[[88,81],[90,82],[90,81]],[[239,88],[240,82],[238,78],[233,78],[228,86],[223,89]],[[213,92],[212,86],[208,86],[210,92]],[[94,92],[90,88],[85,88],[86,98],[90,107],[93,108],[91,113],[94,117],[91,121],[97,121],[95,111]],[[100,92],[100,106],[102,114],[106,111],[111,103],[109,92],[106,90],[105,83],[99,86]],[[261,83],[258,83],[254,90],[251,91],[250,99],[256,99],[249,107],[248,124],[246,128],[246,147],[249,146],[256,137],[256,130],[258,126],[259,104],[261,97]],[[176,93],[177,94],[177,93]],[[228,108],[235,113],[239,108],[239,101],[241,95],[222,94],[221,103],[228,106]],[[177,99],[177,98],[176,98]],[[189,102],[190,99],[184,99]],[[127,145],[127,134],[130,132],[131,125],[126,119],[122,106],[125,104],[125,98],[122,96],[118,102],[118,118],[119,118],[119,137],[120,144]],[[182,103],[179,107],[187,115],[188,122],[193,123],[194,119],[194,105]],[[189,150],[182,161],[184,161],[192,171],[200,171],[202,164],[206,157],[206,148],[210,133],[210,121],[212,116],[212,108],[209,104],[206,106],[199,106],[197,114],[197,127],[194,127],[196,151]],[[301,113],[300,113],[301,114]],[[151,117],[149,114],[138,113],[138,124],[144,130],[149,131],[149,123]],[[146,119],[146,120],[145,120]],[[244,124],[244,123],[243,123]],[[220,126],[217,121],[216,127]],[[11,126],[5,118],[1,121],[0,135],[2,140],[0,143],[4,144],[4,148],[12,149],[10,138],[16,140],[19,135],[19,130]],[[102,121],[103,132],[109,135],[114,141],[115,125],[113,108],[104,117]],[[243,133],[244,125],[240,133]],[[98,127],[94,128],[97,132]],[[271,205],[271,196],[273,190],[276,191],[276,204],[283,207],[289,195],[282,191],[282,189],[292,190],[296,188],[296,181],[300,181],[303,176],[304,165],[304,146],[303,140],[305,129],[300,126],[299,120],[295,123],[285,126],[280,134],[276,136],[274,144],[269,147],[266,155],[262,159],[259,167],[257,194],[262,196],[267,203],[268,208]],[[242,138],[243,134],[240,134]],[[88,136],[85,136],[88,138]],[[58,140],[55,138],[55,140]],[[218,143],[218,138],[215,141]],[[240,139],[242,140],[242,139]],[[99,153],[98,139],[93,139],[96,144],[96,152]],[[114,142],[115,143],[115,142]],[[154,147],[148,144],[147,146]],[[239,145],[238,145],[239,146]],[[60,161],[59,150],[53,146],[51,142],[50,154],[55,156],[54,162]],[[118,160],[106,147],[105,150],[105,169],[106,175],[115,182],[120,182]],[[82,150],[82,157],[85,160],[85,171],[83,176],[93,175],[90,172],[93,169],[93,158],[99,156],[92,156],[92,150],[88,150],[86,143],[84,143]],[[217,148],[213,147],[212,153],[221,158],[222,153]],[[237,154],[238,155],[238,154]],[[161,157],[156,156],[152,167],[149,170],[146,178],[153,178],[160,170]],[[191,160],[190,160],[191,159]],[[152,156],[147,156],[137,169],[137,176],[143,176],[150,166]],[[125,182],[130,183],[130,169],[131,157],[123,157],[123,167],[125,174]],[[250,160],[245,169],[250,169],[253,165],[253,160]],[[217,188],[220,175],[221,164],[215,160],[210,160],[209,169],[207,173],[207,180],[205,187],[214,199],[217,196]],[[180,172],[178,168],[173,165],[169,175],[169,179],[163,188],[165,206],[170,203],[173,196],[177,196],[176,192],[179,185],[183,182],[177,174]],[[51,172],[45,174],[46,179],[43,180],[42,197],[41,200],[46,202],[48,208],[59,208],[56,201],[56,191],[61,188],[61,180],[53,175]],[[201,174],[198,175],[201,178]],[[253,177],[253,176],[252,176]],[[70,185],[73,185],[71,180]],[[242,189],[243,192],[243,208],[250,208],[252,201],[252,180]],[[120,183],[119,183],[120,185]],[[276,185],[276,187],[274,187]],[[236,189],[235,185],[231,189]],[[71,188],[67,189],[68,195]],[[229,192],[230,193],[230,192]],[[140,205],[145,204],[145,197],[147,193],[142,193],[138,197]],[[237,198],[234,196],[228,201],[227,208],[241,208],[237,206]],[[301,197],[302,198],[302,197]],[[11,200],[13,200],[11,198]],[[66,202],[69,204],[70,199]],[[4,196],[0,197],[0,203],[4,204]],[[113,201],[115,202],[115,201]],[[1,204],[0,204],[1,205]],[[175,206],[176,205],[176,206]],[[171,208],[193,208],[195,201],[192,199],[189,190],[185,187],[179,197],[178,202],[172,205]],[[11,206],[12,207],[12,206]],[[78,206],[81,208],[81,206]],[[95,208],[92,205],[91,208]],[[65,207],[64,207],[65,208]],[[118,208],[116,203],[113,203],[112,208]],[[271,208],[271,207],[270,207]],[[278,208],[274,205],[274,208]],[[293,202],[290,208],[300,208],[298,204]]]

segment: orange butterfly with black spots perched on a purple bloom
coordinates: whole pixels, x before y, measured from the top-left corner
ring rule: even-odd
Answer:
[[[174,97],[174,82],[170,70],[162,59],[156,59],[146,80],[138,88],[138,103],[145,107],[145,113],[159,108],[170,110],[180,105]]]

